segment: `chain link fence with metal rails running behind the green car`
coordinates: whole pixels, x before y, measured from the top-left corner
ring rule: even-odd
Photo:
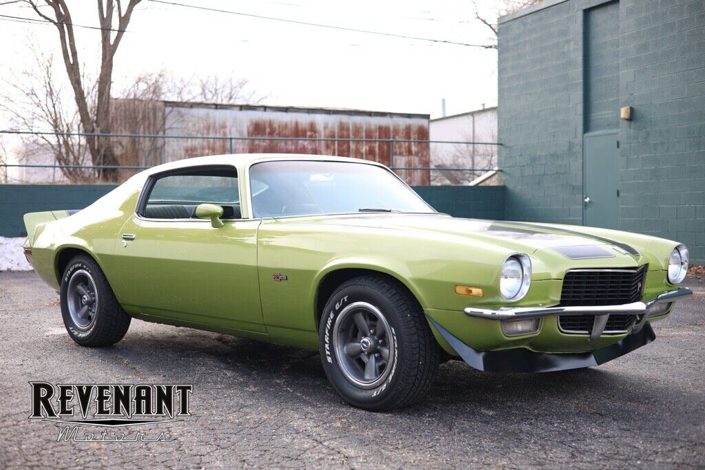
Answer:
[[[102,134],[0,130],[0,183],[122,183],[168,161],[217,154],[350,156],[379,161],[410,185],[496,184],[497,142],[350,137]],[[98,149],[98,151],[95,151]],[[3,158],[4,156],[4,158]]]

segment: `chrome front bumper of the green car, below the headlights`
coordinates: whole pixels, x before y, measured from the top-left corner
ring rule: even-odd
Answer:
[[[692,295],[693,291],[687,287],[678,287],[675,290],[669,290],[656,296],[655,299],[649,302],[633,302],[631,304],[622,305],[599,305],[599,306],[581,306],[581,307],[503,307],[501,309],[482,309],[479,307],[467,307],[465,314],[481,319],[492,320],[524,320],[537,319],[542,316],[551,315],[594,315],[595,321],[590,333],[590,340],[596,340],[602,335],[607,324],[610,314],[626,314],[640,315],[639,323],[635,326],[632,333],[638,333],[646,323],[646,311],[651,306],[660,302],[675,302],[688,295]]]

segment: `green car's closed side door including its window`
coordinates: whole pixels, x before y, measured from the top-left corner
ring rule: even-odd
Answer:
[[[233,166],[192,166],[147,180],[115,249],[125,308],[266,333],[257,279],[260,221],[242,218],[238,183]],[[204,203],[223,207],[222,227],[195,216]]]

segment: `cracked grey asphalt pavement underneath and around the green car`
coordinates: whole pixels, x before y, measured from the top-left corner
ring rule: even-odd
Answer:
[[[703,467],[705,283],[684,285],[696,294],[625,357],[544,374],[450,361],[427,400],[376,414],[345,404],[311,352],[137,320],[114,347],[80,347],[56,292],[2,272],[0,467]],[[28,381],[190,383],[192,416],[132,430],[168,443],[56,442],[27,419]]]

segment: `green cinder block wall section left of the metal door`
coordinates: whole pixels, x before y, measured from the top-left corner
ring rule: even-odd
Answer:
[[[498,164],[509,220],[582,223],[581,37],[573,1],[499,26]]]

